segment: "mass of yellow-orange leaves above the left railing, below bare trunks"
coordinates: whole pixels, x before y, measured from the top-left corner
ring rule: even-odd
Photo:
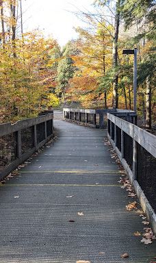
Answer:
[[[51,95],[47,99],[49,88],[55,88],[55,45],[57,49],[54,40],[32,32],[24,34],[23,40],[16,39],[16,58],[12,55],[12,42],[0,49],[1,121],[35,116],[42,107],[58,105],[57,97]]]

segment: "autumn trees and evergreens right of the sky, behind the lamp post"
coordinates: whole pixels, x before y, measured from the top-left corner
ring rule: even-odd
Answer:
[[[155,120],[155,1],[96,0],[94,5],[95,12],[79,14],[88,28],[77,29],[77,71],[66,97],[84,107],[133,109],[133,56],[126,58],[122,49],[137,47],[138,114],[150,128],[152,115]]]

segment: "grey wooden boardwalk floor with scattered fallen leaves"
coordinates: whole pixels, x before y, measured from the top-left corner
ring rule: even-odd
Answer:
[[[55,113],[56,116],[59,115]],[[0,263],[150,263],[101,129],[55,120],[57,140],[0,188]],[[129,258],[120,258],[128,253]]]

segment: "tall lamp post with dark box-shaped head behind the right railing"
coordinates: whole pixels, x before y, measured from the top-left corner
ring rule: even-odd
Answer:
[[[123,55],[134,55],[133,60],[133,111],[137,112],[137,48],[124,49]]]

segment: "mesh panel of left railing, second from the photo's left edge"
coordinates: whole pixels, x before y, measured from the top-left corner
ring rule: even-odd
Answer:
[[[21,129],[21,152],[22,154],[34,147],[34,127]]]

